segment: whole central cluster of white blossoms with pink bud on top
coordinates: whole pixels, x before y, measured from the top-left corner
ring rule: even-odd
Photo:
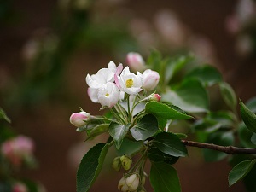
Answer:
[[[145,68],[141,55],[130,53],[127,55],[128,65],[132,69]],[[150,69],[143,73],[131,73],[129,67],[123,69],[123,65],[118,67],[113,61],[108,63],[108,68],[100,69],[96,74],[86,76],[88,84],[88,95],[92,102],[99,102],[102,107],[113,108],[126,94],[137,95],[142,90],[154,90],[160,79],[159,73]]]

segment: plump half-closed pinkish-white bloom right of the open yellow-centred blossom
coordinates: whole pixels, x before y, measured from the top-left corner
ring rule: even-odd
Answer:
[[[160,79],[159,73],[147,69],[143,72],[143,90],[154,90]]]

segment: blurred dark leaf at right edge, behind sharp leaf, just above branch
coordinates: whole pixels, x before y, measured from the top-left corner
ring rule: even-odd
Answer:
[[[243,122],[238,125],[238,137],[243,147],[256,148],[256,145],[252,143],[253,131],[249,131]]]

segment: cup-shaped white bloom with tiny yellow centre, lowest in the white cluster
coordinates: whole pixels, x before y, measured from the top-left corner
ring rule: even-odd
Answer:
[[[116,84],[108,82],[98,89],[98,102],[112,108],[119,101],[120,91]]]

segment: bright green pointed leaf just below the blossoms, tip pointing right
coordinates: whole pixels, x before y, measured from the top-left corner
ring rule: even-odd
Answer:
[[[145,106],[145,112],[154,114],[156,117],[164,119],[190,119],[191,116],[181,113],[174,108],[162,102],[147,102]]]

